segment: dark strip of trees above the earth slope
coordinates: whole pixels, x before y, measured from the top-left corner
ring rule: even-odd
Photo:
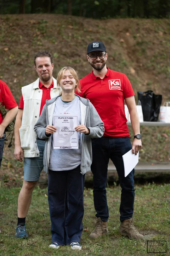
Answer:
[[[6,0],[2,1],[1,14],[42,13],[72,14],[91,18],[169,17],[170,2],[163,0]]]

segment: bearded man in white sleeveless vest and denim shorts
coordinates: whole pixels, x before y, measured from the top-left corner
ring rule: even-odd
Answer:
[[[35,54],[34,64],[39,78],[22,87],[19,111],[15,122],[15,158],[24,161],[23,186],[18,197],[17,238],[28,238],[26,215],[31,203],[32,192],[43,169],[45,140],[40,140],[34,132],[46,100],[59,95],[57,81],[52,77],[53,62],[49,52]]]

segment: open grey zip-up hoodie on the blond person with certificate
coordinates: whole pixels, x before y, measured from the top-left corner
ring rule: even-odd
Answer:
[[[78,96],[78,95],[77,95]],[[58,96],[60,97],[60,96]],[[51,136],[47,137],[45,129],[48,124],[52,125],[53,113],[55,108],[56,99],[46,100],[46,104],[42,109],[41,116],[34,126],[34,131],[40,139],[46,139],[44,150],[44,171],[47,173],[49,169],[50,152],[51,152]],[[90,129],[90,134],[85,135],[81,133],[81,173],[85,174],[90,171],[92,163],[92,146],[91,138],[100,138],[104,133],[104,123],[98,115],[92,103],[85,98],[80,98],[80,113],[81,124],[84,124]],[[68,149],[69,150],[69,149]]]

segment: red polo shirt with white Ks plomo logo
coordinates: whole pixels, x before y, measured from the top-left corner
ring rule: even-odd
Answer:
[[[92,71],[80,79],[80,84],[79,95],[90,100],[104,122],[103,136],[130,137],[124,100],[135,93],[127,76],[108,69],[107,74],[101,79]]]

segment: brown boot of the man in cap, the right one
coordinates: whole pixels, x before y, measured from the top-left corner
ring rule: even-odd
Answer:
[[[134,226],[133,219],[126,219],[121,222],[119,227],[119,233],[122,236],[128,236],[129,239],[144,239],[143,235],[140,234]]]

